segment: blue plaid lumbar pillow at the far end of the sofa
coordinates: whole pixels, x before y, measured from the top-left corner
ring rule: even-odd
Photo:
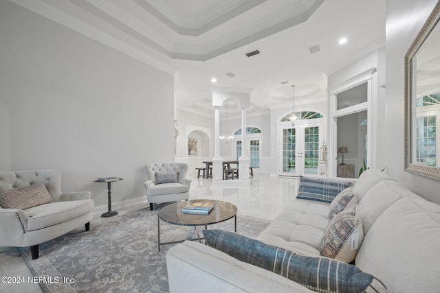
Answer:
[[[331,202],[342,190],[352,183],[342,180],[318,179],[300,176],[298,195],[296,198],[304,200],[318,200]]]

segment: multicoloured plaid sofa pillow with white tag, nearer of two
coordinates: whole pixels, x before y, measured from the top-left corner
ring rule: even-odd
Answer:
[[[362,239],[362,222],[356,218],[354,206],[329,221],[322,235],[320,255],[350,263],[355,259]]]

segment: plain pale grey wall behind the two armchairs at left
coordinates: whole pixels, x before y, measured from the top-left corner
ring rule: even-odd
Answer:
[[[63,191],[107,204],[145,195],[144,165],[173,161],[173,76],[0,1],[0,169],[58,169]]]

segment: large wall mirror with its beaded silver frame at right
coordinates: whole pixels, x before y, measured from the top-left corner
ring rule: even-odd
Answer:
[[[440,1],[405,56],[405,171],[436,180],[440,180],[439,18]]]

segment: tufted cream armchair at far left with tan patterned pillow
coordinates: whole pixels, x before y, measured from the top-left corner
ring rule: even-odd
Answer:
[[[0,246],[39,244],[85,225],[90,228],[94,201],[89,191],[61,193],[56,170],[0,172]]]

